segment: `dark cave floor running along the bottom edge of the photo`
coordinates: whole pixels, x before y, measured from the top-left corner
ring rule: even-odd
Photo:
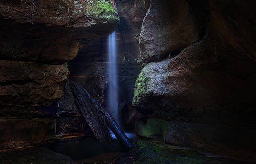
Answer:
[[[89,147],[87,147],[89,148]],[[228,158],[209,157],[193,150],[166,145],[159,141],[137,139],[128,152],[100,153],[97,156],[74,160],[46,147],[33,147],[25,150],[0,153],[0,164],[249,164]]]

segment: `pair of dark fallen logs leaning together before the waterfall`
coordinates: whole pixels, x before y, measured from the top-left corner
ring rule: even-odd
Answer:
[[[99,116],[99,117],[97,117],[97,119],[101,119],[103,123],[106,122],[106,124],[109,126],[109,128],[112,130],[112,132],[115,134],[118,141],[120,141],[126,147],[130,148],[132,146],[131,142],[129,141],[128,137],[125,135],[123,130],[118,126],[118,124],[115,122],[115,120],[109,114],[109,112],[107,110],[105,110],[104,107],[99,102],[97,102],[95,99],[92,99],[91,95],[85,90],[85,88],[82,87],[82,85],[79,85],[78,83],[73,82],[73,81],[70,82],[70,85],[71,85],[71,90],[72,90],[72,93],[74,94],[75,101],[77,102],[79,109],[83,113],[85,120],[87,120],[89,122],[89,126],[91,125],[90,127],[91,127],[92,131],[93,132],[95,131],[96,136],[100,136],[100,135],[98,135],[98,132],[96,129],[97,127],[94,127],[94,124],[91,123],[92,121],[95,121],[95,120],[92,120],[91,118],[89,118],[89,117],[91,117],[91,114],[90,114],[90,116],[87,116],[85,114],[86,109],[93,110],[93,112],[90,112],[90,113],[94,113],[97,116]],[[103,116],[102,116],[102,114],[103,114]],[[96,119],[95,116],[92,116],[92,118]],[[105,125],[103,125],[103,127],[105,127]],[[100,128],[102,128],[102,127],[100,127]],[[107,128],[107,130],[108,130],[108,128]],[[106,133],[106,134],[109,135],[109,133]],[[96,139],[97,138],[99,138],[99,137],[96,137]],[[109,140],[109,136],[107,137],[107,139]]]

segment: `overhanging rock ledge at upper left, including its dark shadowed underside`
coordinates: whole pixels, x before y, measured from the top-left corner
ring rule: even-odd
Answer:
[[[109,0],[18,0],[0,7],[0,59],[62,64],[76,57],[82,40],[106,36],[119,22]]]

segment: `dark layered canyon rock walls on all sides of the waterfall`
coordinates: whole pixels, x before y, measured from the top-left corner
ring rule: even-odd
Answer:
[[[255,6],[0,0],[0,151],[92,136],[68,79],[106,105],[106,36],[116,30],[119,108],[130,130],[144,115],[138,136],[256,161]]]

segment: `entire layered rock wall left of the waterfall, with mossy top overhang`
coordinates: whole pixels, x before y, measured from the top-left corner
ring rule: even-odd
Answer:
[[[0,151],[54,141],[62,64],[119,22],[112,1],[0,1]],[[59,126],[59,124],[57,125]]]

